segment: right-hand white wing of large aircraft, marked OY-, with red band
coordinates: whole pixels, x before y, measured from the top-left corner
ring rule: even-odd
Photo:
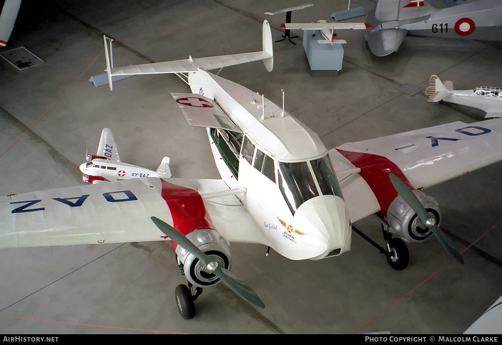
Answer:
[[[502,119],[457,121],[348,142],[329,154],[339,161],[334,169],[355,222],[380,211],[369,185],[378,188],[390,172],[402,173],[415,189],[423,189],[502,160]]]

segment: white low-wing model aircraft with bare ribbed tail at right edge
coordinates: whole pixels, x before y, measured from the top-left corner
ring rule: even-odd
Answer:
[[[451,102],[486,111],[484,117],[502,117],[502,88],[479,86],[471,90],[454,90],[451,80],[444,84],[435,74],[425,89],[428,102]]]

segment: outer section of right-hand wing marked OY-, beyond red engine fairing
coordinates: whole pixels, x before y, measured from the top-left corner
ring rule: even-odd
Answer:
[[[431,187],[502,159],[502,119],[452,122],[336,147],[345,157],[383,157],[416,188]],[[348,158],[349,160],[351,158]]]

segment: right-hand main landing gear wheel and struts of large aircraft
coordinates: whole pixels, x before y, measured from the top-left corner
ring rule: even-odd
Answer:
[[[406,243],[399,238],[392,238],[392,233],[385,230],[382,225],[382,232],[384,234],[384,240],[387,244],[387,248],[380,246],[378,243],[374,242],[360,230],[352,226],[352,230],[369,242],[373,247],[380,250],[380,253],[385,254],[389,265],[395,270],[403,270],[408,266],[410,260],[410,255],[408,252],[408,247]]]

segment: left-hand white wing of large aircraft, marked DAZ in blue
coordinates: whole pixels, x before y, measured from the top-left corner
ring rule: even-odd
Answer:
[[[190,185],[204,192],[228,190],[220,180],[143,178],[1,197],[0,248],[169,240],[150,217],[173,225],[170,207],[180,199],[166,186]],[[231,241],[263,242],[258,226],[231,197],[207,202],[216,229]],[[196,211],[206,210],[201,208]],[[237,212],[227,215],[231,210]]]

